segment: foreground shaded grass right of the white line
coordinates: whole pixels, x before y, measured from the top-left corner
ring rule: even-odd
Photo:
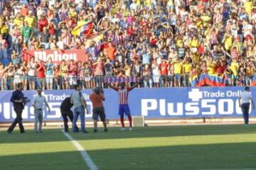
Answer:
[[[89,151],[100,169],[256,169],[256,143]]]

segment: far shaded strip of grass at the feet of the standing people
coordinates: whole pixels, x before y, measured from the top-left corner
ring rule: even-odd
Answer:
[[[106,140],[125,139],[138,137],[175,137],[193,135],[239,135],[256,133],[256,125],[187,125],[187,126],[161,126],[134,128],[133,131],[121,132],[119,128],[109,128],[109,132],[93,133],[92,128],[87,128],[88,134],[77,133],[73,135],[76,140]],[[46,129],[43,134],[36,134],[33,130],[27,130],[20,134],[17,130],[11,135],[6,131],[0,131],[1,143],[23,143],[23,142],[58,142],[67,141],[61,129]]]

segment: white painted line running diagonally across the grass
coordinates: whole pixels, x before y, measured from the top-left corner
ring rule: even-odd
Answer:
[[[91,170],[97,170],[97,166],[95,165],[95,163],[92,161],[92,159],[90,158],[89,154],[85,151],[85,149],[82,147],[82,145],[80,145],[80,143],[76,140],[74,140],[73,137],[71,137],[68,133],[64,132],[64,130],[61,130],[64,135],[66,137],[68,137],[68,140],[70,140],[70,142],[73,143],[73,145],[76,147],[76,149],[78,149],[78,151],[80,151],[80,154],[82,155],[82,158],[85,160],[85,163],[87,164],[87,166],[89,166],[89,168]]]

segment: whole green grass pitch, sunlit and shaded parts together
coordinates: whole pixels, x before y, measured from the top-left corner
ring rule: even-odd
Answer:
[[[70,133],[98,169],[256,169],[256,125],[186,125]],[[1,170],[89,169],[61,129],[0,131]]]

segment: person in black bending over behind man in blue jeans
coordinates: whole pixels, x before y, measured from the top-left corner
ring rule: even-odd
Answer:
[[[63,116],[65,132],[68,132],[68,118],[70,118],[71,122],[73,122],[73,118],[74,118],[73,112],[70,110],[73,107],[73,104],[70,101],[71,101],[71,98],[66,97],[60,105],[60,113]],[[76,126],[75,128],[78,132],[79,131],[78,127]]]

